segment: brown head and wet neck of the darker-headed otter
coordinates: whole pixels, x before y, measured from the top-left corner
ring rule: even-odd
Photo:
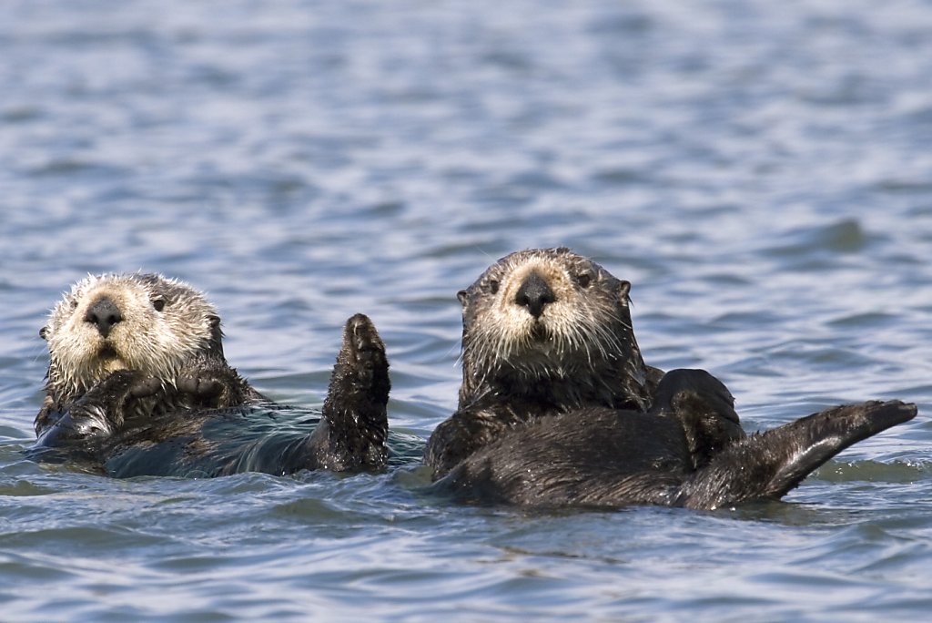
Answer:
[[[556,408],[646,408],[630,288],[566,248],[502,257],[458,294],[460,407],[494,393]]]

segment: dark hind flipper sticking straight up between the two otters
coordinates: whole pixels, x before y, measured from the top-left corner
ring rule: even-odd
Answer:
[[[379,469],[388,460],[391,381],[385,344],[362,313],[349,318],[336,356],[321,423],[308,438],[314,467]]]

